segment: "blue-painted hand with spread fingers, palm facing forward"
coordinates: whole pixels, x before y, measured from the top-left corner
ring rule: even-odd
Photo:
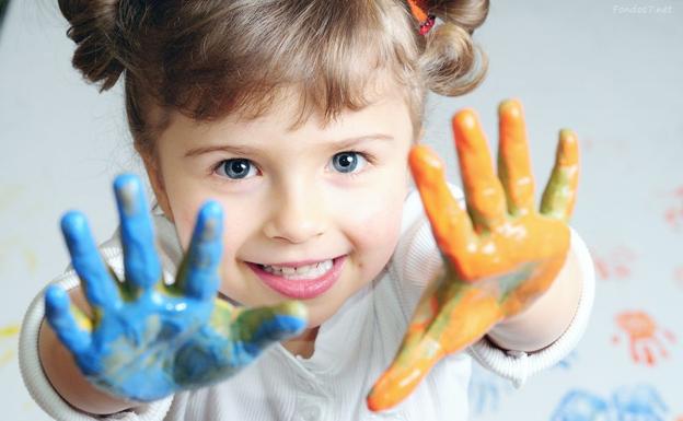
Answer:
[[[217,202],[199,210],[176,282],[166,286],[138,178],[120,176],[114,189],[125,250],[123,282],[102,260],[85,217],[69,212],[61,224],[95,314],[92,331],[79,326],[84,316],[70,307],[61,288],[45,292],[49,325],[92,384],[118,397],[157,400],[225,379],[269,344],[305,328],[301,303],[248,309],[218,301],[223,214]]]

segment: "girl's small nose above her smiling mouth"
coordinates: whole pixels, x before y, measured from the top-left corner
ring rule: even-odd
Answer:
[[[270,217],[264,225],[268,238],[305,243],[327,227],[325,204],[320,189],[311,184],[281,186],[273,194]]]

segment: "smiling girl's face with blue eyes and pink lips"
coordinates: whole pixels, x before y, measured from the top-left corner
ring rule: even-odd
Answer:
[[[413,137],[394,91],[296,131],[299,108],[286,101],[252,121],[173,116],[158,140],[159,173],[148,171],[185,249],[200,206],[222,204],[223,294],[247,306],[301,300],[315,327],[383,269],[398,241]]]

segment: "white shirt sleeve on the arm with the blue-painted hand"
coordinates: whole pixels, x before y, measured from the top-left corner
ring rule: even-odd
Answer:
[[[107,242],[111,243],[111,242]],[[121,257],[119,247],[101,248],[101,253],[105,260],[112,266],[115,272],[121,272]],[[79,279],[72,269],[67,270],[62,276],[55,279],[51,283],[70,290],[78,286]],[[28,305],[28,309],[24,316],[19,338],[19,365],[21,375],[31,394],[32,398],[38,406],[56,420],[65,421],[94,421],[94,420],[126,420],[126,421],[160,421],[163,420],[173,397],[169,397],[159,401],[154,401],[141,407],[134,408],[128,411],[117,412],[111,416],[94,416],[91,413],[77,410],[67,404],[57,391],[43,372],[38,353],[38,334],[40,325],[45,317],[44,305],[45,290],[40,291],[33,302]]]

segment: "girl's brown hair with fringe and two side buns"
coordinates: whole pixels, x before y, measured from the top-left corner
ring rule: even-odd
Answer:
[[[406,87],[417,136],[426,90],[461,95],[486,72],[471,35],[488,0],[427,3],[441,22],[426,36],[405,0],[59,0],[59,8],[85,79],[105,91],[124,74],[134,142],[151,157],[169,110],[255,118],[294,85],[294,126],[313,110],[329,121],[368,104],[378,72]]]

